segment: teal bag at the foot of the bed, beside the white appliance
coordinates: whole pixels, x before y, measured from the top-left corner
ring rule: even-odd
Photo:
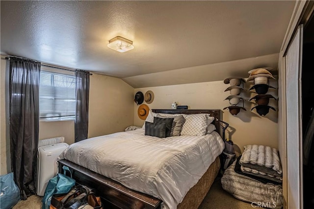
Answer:
[[[58,173],[55,177],[49,180],[45,194],[43,197],[42,209],[49,209],[51,204],[51,199],[53,194],[68,193],[74,186],[75,180],[72,179],[72,173],[67,166],[63,166],[63,174]],[[69,171],[71,178],[66,176],[66,171]]]

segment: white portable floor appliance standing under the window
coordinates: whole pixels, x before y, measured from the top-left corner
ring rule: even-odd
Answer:
[[[64,137],[61,141],[64,141]],[[55,138],[53,138],[55,139]],[[55,143],[53,140],[46,140],[46,144]],[[49,141],[50,140],[50,141]],[[57,174],[57,158],[68,147],[67,143],[55,143],[38,147],[37,153],[37,195],[44,196],[47,184]]]

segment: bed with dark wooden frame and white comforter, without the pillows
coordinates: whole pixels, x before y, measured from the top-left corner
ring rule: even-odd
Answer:
[[[95,188],[105,208],[197,209],[220,169],[221,110],[152,112],[209,114],[216,130],[158,138],[138,129],[93,137],[70,145],[60,155],[59,172],[68,166],[77,183]]]

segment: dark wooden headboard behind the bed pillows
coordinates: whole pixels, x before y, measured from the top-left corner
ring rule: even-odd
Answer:
[[[155,113],[167,113],[167,114],[199,114],[208,113],[211,117],[214,117],[212,124],[215,125],[216,131],[222,136],[222,129],[220,122],[222,121],[222,111],[220,109],[152,109]]]

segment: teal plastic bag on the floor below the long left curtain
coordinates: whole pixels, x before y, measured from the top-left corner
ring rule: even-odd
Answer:
[[[20,200],[20,189],[14,182],[13,172],[0,176],[0,209],[10,209]]]

